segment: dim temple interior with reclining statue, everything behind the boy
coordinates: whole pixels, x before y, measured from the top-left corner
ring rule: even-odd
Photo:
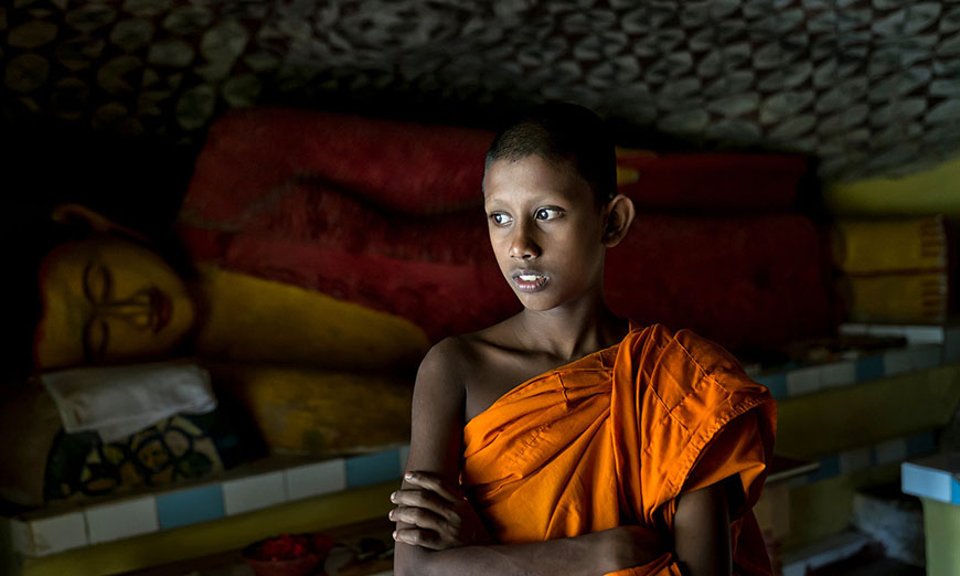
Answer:
[[[557,100],[610,308],[777,401],[772,573],[960,574],[956,0],[3,2],[0,574],[393,574],[417,366],[521,308],[487,149]]]

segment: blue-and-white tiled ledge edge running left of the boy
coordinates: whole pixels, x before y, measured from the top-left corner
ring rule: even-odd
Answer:
[[[217,520],[397,480],[409,447],[335,458],[88,505],[51,506],[10,519],[12,548],[24,556],[58,552]]]

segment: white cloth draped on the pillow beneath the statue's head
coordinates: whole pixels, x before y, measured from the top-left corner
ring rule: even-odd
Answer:
[[[216,408],[210,374],[184,362],[102,366],[40,376],[67,433],[95,430],[120,440],[174,414]]]

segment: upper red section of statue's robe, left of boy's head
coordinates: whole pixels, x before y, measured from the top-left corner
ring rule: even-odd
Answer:
[[[483,130],[312,110],[234,110],[211,127],[183,210],[238,223],[291,182],[328,183],[397,211],[455,210],[478,201],[492,139]]]

